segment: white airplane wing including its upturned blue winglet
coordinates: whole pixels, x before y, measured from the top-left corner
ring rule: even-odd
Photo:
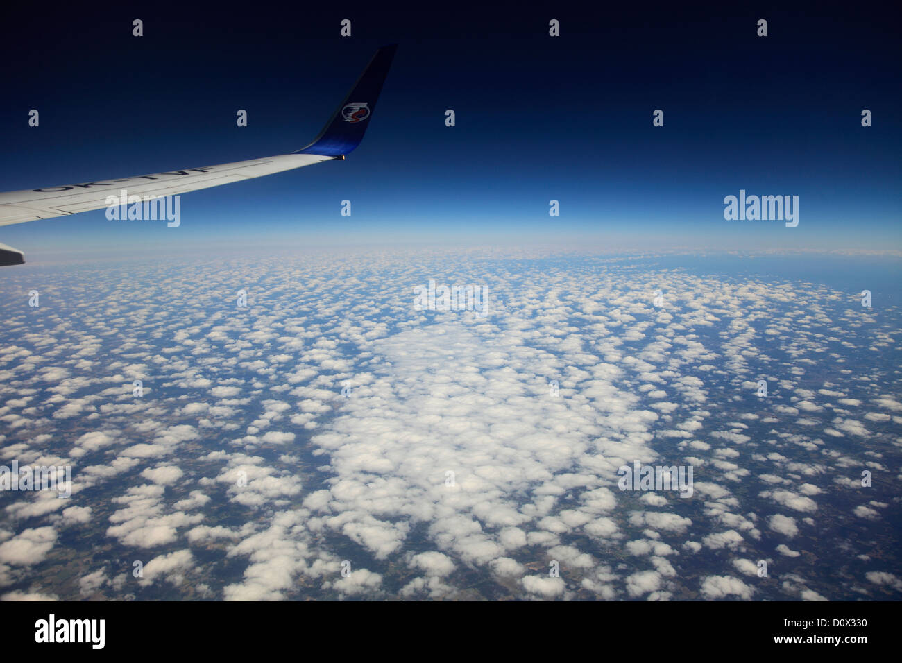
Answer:
[[[108,196],[119,196],[123,189],[128,192],[129,199],[132,196],[142,200],[173,196],[272,175],[274,172],[321,161],[344,159],[345,154],[352,152],[364,138],[397,48],[397,45],[392,45],[376,51],[373,60],[370,60],[364,73],[313,143],[297,152],[217,166],[169,170],[152,175],[0,193],[0,226],[102,209],[108,207]],[[21,251],[0,244],[0,266],[23,262],[25,260]]]

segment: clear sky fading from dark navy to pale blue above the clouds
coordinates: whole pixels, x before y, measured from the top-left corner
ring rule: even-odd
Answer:
[[[879,7],[211,6],[5,9],[0,189],[297,150],[375,48],[398,42],[361,147],[187,194],[178,229],[101,210],[5,226],[0,242],[26,259],[136,241],[902,248],[902,40]],[[725,221],[739,189],[799,196],[799,226]]]

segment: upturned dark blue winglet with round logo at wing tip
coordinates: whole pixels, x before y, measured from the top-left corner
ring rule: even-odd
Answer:
[[[354,150],[364,140],[364,132],[376,109],[382,83],[389,73],[391,60],[398,44],[383,46],[357,78],[354,87],[338,106],[335,114],[319,132],[316,140],[295,154],[322,154],[341,157]]]

